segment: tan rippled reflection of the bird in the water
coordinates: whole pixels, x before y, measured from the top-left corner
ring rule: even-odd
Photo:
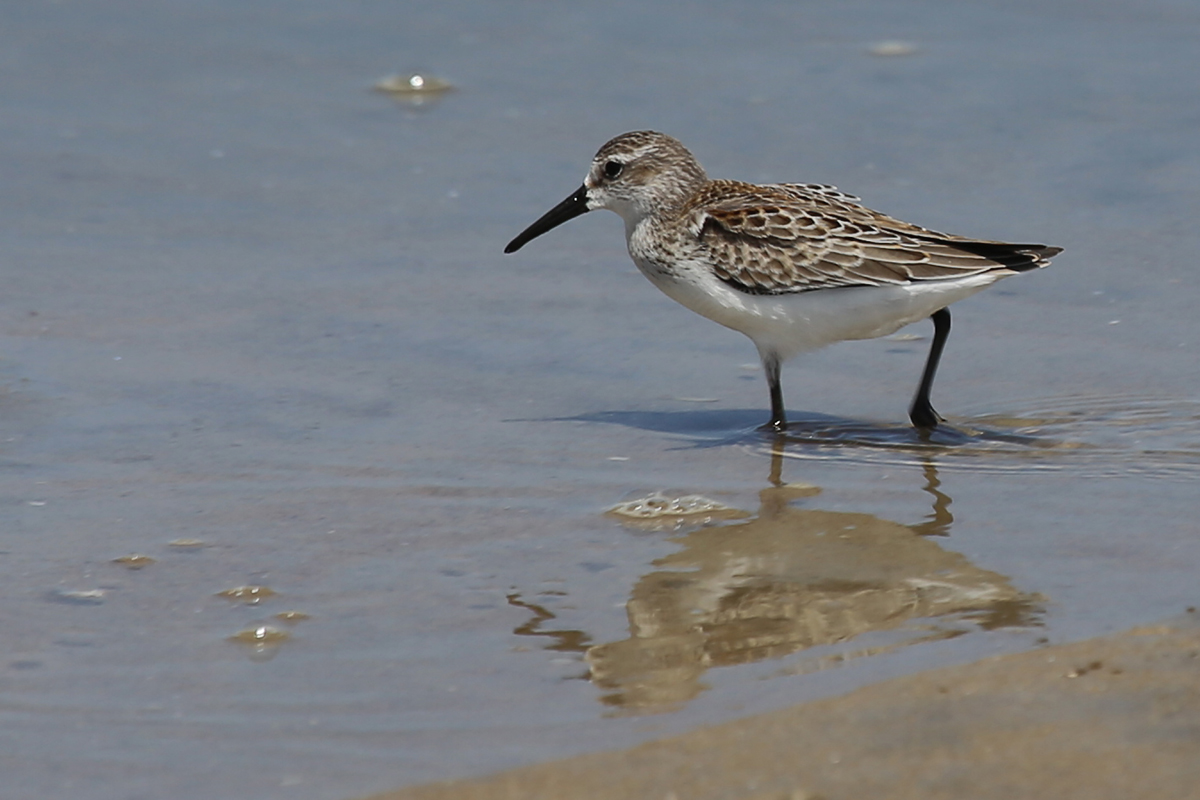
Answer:
[[[714,667],[841,645],[786,669],[814,672],[972,630],[1038,624],[1039,595],[1019,591],[935,540],[954,518],[931,462],[924,491],[932,512],[914,525],[798,507],[797,500],[820,489],[785,483],[781,467],[778,443],[770,486],[752,518],[674,537],[680,549],[655,561],[658,569],[632,589],[628,638],[590,644],[581,631],[544,630],[553,614],[518,595],[509,602],[534,618],[515,632],[548,636],[548,649],[581,652],[586,678],[614,711],[655,714],[704,691],[703,675]],[[857,649],[845,644],[872,632],[892,636]]]

